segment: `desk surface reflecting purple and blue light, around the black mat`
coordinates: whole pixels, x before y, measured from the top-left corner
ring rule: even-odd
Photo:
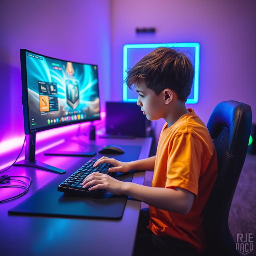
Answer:
[[[133,140],[97,138],[95,142],[88,141],[88,143],[96,145],[140,145],[142,150],[139,159],[143,159],[149,155],[152,138],[135,138]],[[46,164],[52,164],[66,170],[79,168],[89,159],[44,156],[42,153],[36,158]],[[30,176],[32,183],[26,195],[14,201],[0,204],[0,255],[132,255],[141,202],[128,200],[121,220],[9,216],[7,213],[9,209],[61,174],[20,166],[12,167],[3,174]],[[132,182],[143,184],[144,176],[145,172],[136,173]]]

